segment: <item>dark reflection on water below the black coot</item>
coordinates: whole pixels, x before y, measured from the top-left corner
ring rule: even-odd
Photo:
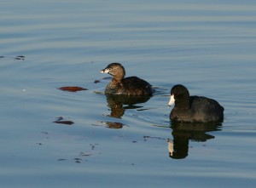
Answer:
[[[169,157],[183,159],[189,155],[189,140],[206,142],[214,139],[208,132],[218,131],[222,123],[177,123],[171,122],[173,140],[168,140]]]

